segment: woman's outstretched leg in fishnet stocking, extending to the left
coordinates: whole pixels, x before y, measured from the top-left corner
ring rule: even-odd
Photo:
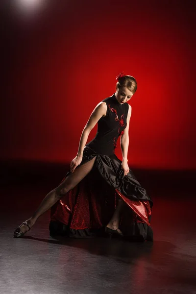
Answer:
[[[30,228],[34,225],[37,219],[43,215],[49,208],[56,203],[62,196],[73,189],[93,168],[95,159],[93,157],[90,161],[84,163],[81,166],[75,168],[74,172],[69,174],[65,180],[55,189],[49,192],[47,196],[42,200],[37,210],[33,213],[32,217],[26,220]],[[25,233],[29,230],[28,226],[22,224],[20,230]]]

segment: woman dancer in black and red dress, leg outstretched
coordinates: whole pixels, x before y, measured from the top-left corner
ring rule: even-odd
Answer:
[[[129,169],[127,160],[131,117],[127,102],[137,90],[137,81],[124,73],[116,79],[116,92],[97,104],[86,123],[69,172],[14,231],[15,238],[24,236],[51,208],[51,236],[115,236],[130,241],[153,241],[150,226],[153,202]],[[97,134],[86,144],[96,123]],[[119,137],[123,161],[115,154]]]

